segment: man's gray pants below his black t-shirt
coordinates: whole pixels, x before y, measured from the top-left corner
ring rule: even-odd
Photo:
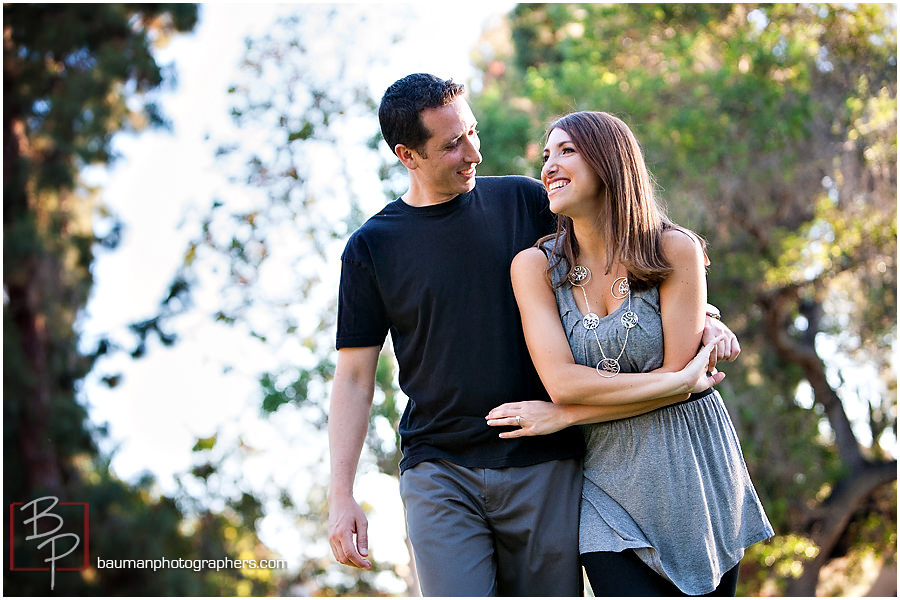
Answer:
[[[424,596],[582,596],[581,459],[481,469],[445,460],[400,477]]]

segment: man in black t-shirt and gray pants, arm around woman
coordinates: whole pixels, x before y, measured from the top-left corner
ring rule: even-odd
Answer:
[[[530,178],[476,184],[480,142],[463,92],[414,74],[381,101],[382,134],[410,185],[353,234],[342,257],[330,543],[339,562],[371,566],[353,480],[390,331],[409,397],[400,491],[423,594],[577,596],[580,432],[500,439],[485,421],[505,402],[547,399],[525,346],[509,265],[552,230],[553,215]],[[720,356],[737,352],[731,336]],[[597,375],[585,367],[584,377]],[[668,401],[629,405],[621,416]]]

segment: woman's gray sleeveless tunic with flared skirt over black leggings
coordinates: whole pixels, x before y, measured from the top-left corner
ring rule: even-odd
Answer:
[[[553,281],[567,270],[562,259]],[[595,366],[603,357],[581,324],[573,296],[581,290],[566,282],[555,292],[575,362]],[[607,357],[622,349],[627,305],[626,299],[596,329]],[[631,310],[638,324],[619,359],[621,372],[652,371],[663,364],[659,288],[632,291]],[[715,589],[746,547],[774,535],[717,391],[583,431],[582,554],[631,548],[681,591],[699,595]]]

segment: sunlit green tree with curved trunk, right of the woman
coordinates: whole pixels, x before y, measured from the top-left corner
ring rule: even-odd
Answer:
[[[670,214],[708,238],[710,294],[744,348],[727,404],[779,534],[745,561],[752,593],[813,595],[844,556],[895,563],[894,19],[522,4],[481,59],[482,170],[536,174],[553,116],[606,110]]]

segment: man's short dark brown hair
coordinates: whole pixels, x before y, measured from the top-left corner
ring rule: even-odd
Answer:
[[[422,111],[453,102],[466,86],[428,73],[413,73],[395,81],[381,98],[378,120],[381,135],[391,148],[403,144],[421,151],[431,132],[422,123]]]

